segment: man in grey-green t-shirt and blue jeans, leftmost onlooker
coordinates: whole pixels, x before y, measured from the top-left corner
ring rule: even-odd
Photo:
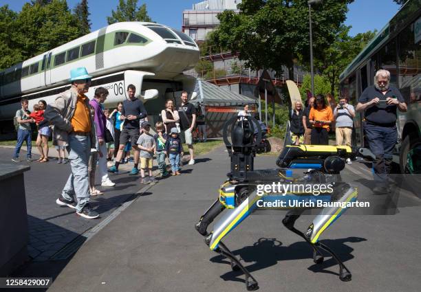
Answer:
[[[17,144],[14,148],[14,155],[12,157],[12,161],[18,162],[19,161],[19,152],[21,151],[21,147],[24,141],[26,141],[26,160],[32,161],[32,131],[31,131],[31,124],[35,122],[34,119],[29,117],[30,111],[28,111],[28,100],[22,99],[21,100],[22,108],[17,110],[16,115],[14,118],[16,119],[17,124],[19,124],[17,129]],[[25,115],[28,114],[28,115]]]

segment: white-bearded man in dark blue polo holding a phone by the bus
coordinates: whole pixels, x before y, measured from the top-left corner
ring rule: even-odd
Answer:
[[[407,104],[396,87],[389,85],[390,72],[380,69],[374,77],[374,86],[367,87],[358,100],[356,111],[364,111],[365,135],[374,161],[374,180],[377,194],[389,192],[387,175],[391,170],[393,148],[398,131],[396,129],[396,109],[407,111]]]

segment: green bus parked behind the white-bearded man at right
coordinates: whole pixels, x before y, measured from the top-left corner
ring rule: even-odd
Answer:
[[[356,106],[364,89],[374,85],[378,69],[390,71],[391,85],[400,89],[408,105],[406,113],[398,111],[393,161],[402,173],[421,173],[421,159],[418,167],[415,165],[415,156],[421,153],[421,0],[407,1],[345,68],[339,77],[341,96]],[[367,147],[363,116],[357,113],[354,118],[354,146]]]

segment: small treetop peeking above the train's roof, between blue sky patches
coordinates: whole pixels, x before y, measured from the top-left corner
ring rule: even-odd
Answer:
[[[119,0],[116,11],[111,10],[111,16],[107,16],[108,24],[122,21],[146,21],[151,22],[146,4],[138,8],[138,0]]]

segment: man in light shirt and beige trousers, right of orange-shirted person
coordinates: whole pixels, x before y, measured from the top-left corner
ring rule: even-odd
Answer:
[[[339,104],[335,107],[334,117],[336,120],[336,145],[351,146],[352,119],[355,117],[354,106],[348,104],[347,98],[340,98]],[[347,159],[347,164],[351,164],[351,159]]]

